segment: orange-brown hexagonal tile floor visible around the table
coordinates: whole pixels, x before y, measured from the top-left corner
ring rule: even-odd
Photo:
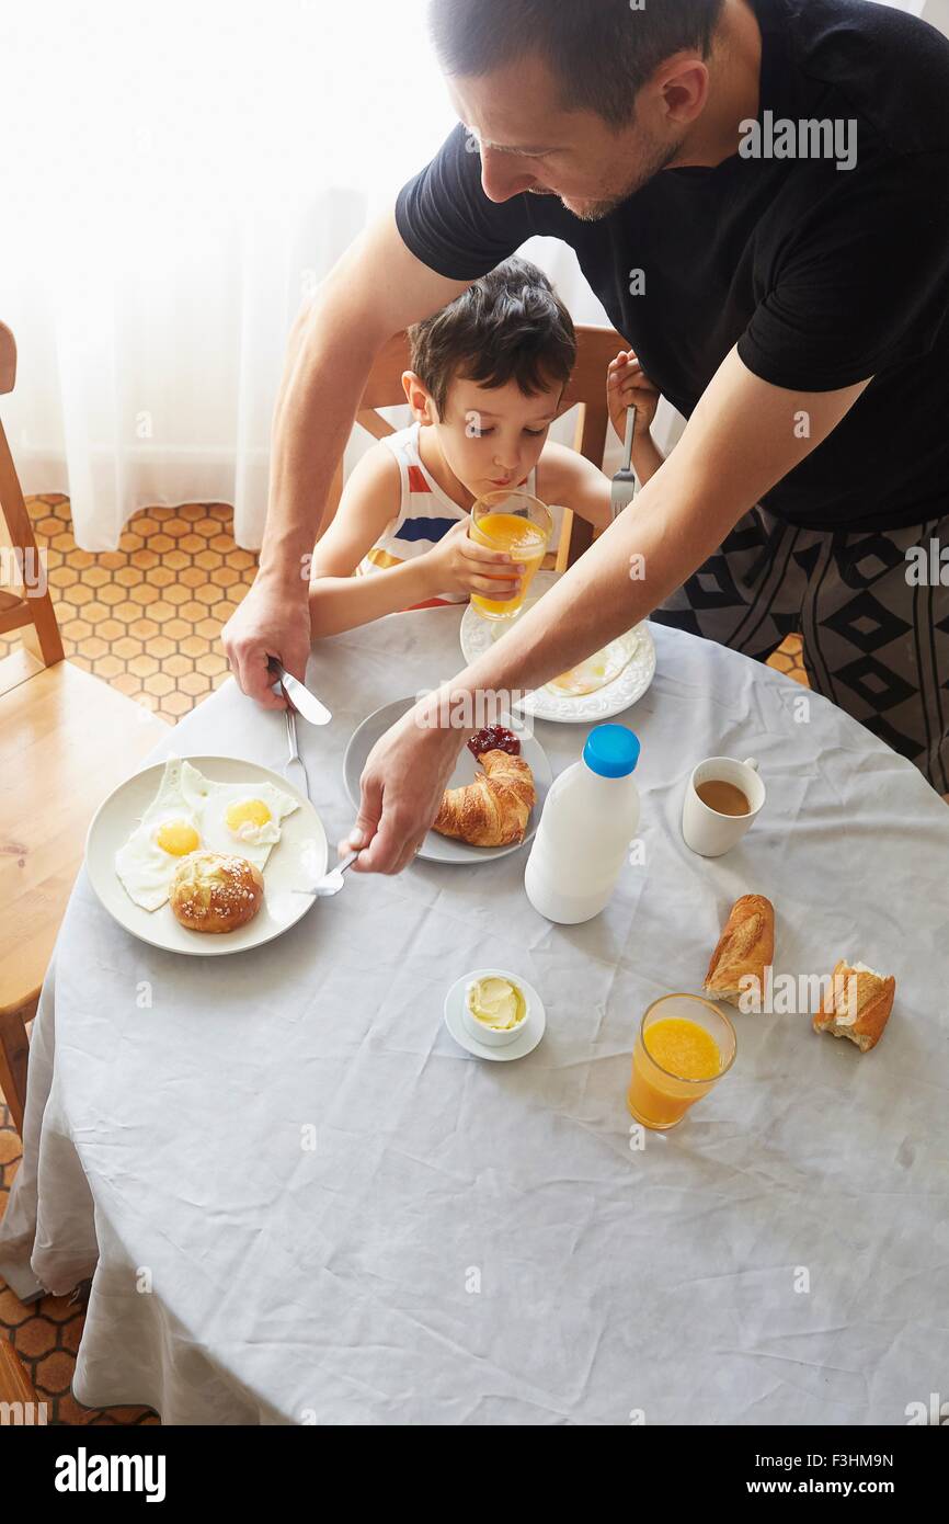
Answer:
[[[119,549],[101,555],[76,547],[69,498],[49,492],[27,507],[70,661],[172,722],[224,681],[221,626],[256,572],[256,556],[235,546],[227,504],[145,509],[129,520]],[[14,643],[0,639],[0,657]],[[798,637],[771,664],[807,684]],[[0,1106],[0,1210],[18,1163],[20,1138]],[[146,1408],[94,1410],[75,1401],[70,1381],[84,1318],[82,1297],[24,1306],[0,1282],[0,1338],[18,1350],[50,1423],[157,1423]]]

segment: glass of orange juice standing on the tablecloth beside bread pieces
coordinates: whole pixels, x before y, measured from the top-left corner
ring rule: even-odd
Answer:
[[[643,1017],[632,1053],[626,1105],[644,1128],[664,1132],[682,1120],[734,1064],[728,1017],[701,995],[663,995]]]

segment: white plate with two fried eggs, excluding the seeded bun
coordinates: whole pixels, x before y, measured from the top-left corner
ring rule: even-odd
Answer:
[[[235,931],[183,927],[169,893],[192,853],[244,858],[264,878],[264,902]],[[178,757],[143,768],[99,806],[85,869],[99,901],[133,936],[174,952],[219,956],[270,942],[314,904],[329,844],[311,802],[285,777],[239,757]]]

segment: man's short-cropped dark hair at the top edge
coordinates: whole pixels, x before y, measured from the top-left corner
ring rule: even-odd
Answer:
[[[611,126],[635,116],[655,70],[684,49],[708,58],[725,0],[431,0],[430,24],[446,75],[481,78],[538,55],[565,111]]]

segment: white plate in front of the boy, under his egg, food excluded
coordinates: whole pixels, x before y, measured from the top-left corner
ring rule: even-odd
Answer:
[[[532,591],[533,588],[539,590],[538,596],[527,599],[521,614],[533,608],[538,599],[544,597],[544,593],[548,593],[554,582],[559,581],[559,576],[561,573],[558,572],[538,572],[532,584]],[[478,611],[469,604],[462,619],[462,651],[465,652],[465,658],[474,661],[486,651],[490,651],[495,640],[503,639],[509,629],[516,626],[521,614],[509,620],[481,619]],[[521,700],[518,709],[526,715],[533,715],[535,719],[553,719],[562,725],[585,725],[591,721],[599,724],[603,719],[611,719],[614,715],[621,715],[625,709],[629,709],[631,704],[635,704],[643,696],[655,677],[655,642],[649,623],[643,620],[641,625],[637,625],[623,639],[629,640],[631,646],[635,642],[629,664],[606,687],[599,689],[596,693],[583,693],[580,698],[558,693],[551,687],[538,687],[527,698]]]

